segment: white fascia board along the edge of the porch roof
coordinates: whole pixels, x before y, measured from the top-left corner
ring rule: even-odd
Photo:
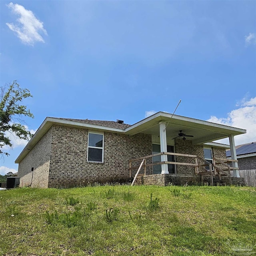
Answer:
[[[175,119],[175,120],[181,120],[181,121],[190,122],[190,123],[192,122],[194,124],[200,124],[200,125],[204,126],[204,128],[203,128],[204,130],[211,130],[211,127],[212,127],[212,128],[225,129],[227,134],[230,134],[230,132],[232,132],[232,134],[236,134],[236,135],[246,133],[246,130],[244,130],[244,129],[240,129],[240,128],[236,128],[236,127],[232,127],[232,126],[226,126],[226,125],[223,125],[223,124],[215,124],[215,123],[212,123],[212,122],[203,121],[203,120],[194,119],[194,118],[189,118],[189,117],[185,117],[185,116],[172,115],[172,114],[165,113],[165,112],[157,112],[156,114],[154,114],[152,116],[149,116],[149,117],[137,122],[136,124],[133,124],[132,126],[126,128],[125,132],[129,132],[132,129],[137,128],[138,126],[140,126],[142,124],[145,124],[146,122],[149,122],[151,120],[154,120],[158,117],[168,118],[170,120],[172,118],[172,119]],[[165,120],[165,121],[170,122],[170,120],[168,120],[168,119]],[[206,126],[208,126],[208,127],[206,127]]]

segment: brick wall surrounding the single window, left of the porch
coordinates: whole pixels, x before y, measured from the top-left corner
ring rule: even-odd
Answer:
[[[104,132],[104,163],[87,162],[88,130],[52,127],[48,187],[112,182],[129,177],[129,160],[151,154],[151,135]]]

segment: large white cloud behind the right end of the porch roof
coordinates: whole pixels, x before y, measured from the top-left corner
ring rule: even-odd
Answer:
[[[256,97],[250,100],[242,100],[243,104],[240,108],[232,110],[225,118],[217,118],[211,116],[207,121],[217,124],[234,126],[246,129],[246,134],[235,136],[235,144],[245,144],[256,141]],[[220,143],[229,144],[228,139],[219,140]]]

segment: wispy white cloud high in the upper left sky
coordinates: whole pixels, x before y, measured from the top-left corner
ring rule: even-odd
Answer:
[[[12,9],[12,12],[18,15],[19,18],[16,20],[16,24],[6,23],[6,25],[17,34],[22,43],[29,45],[34,45],[35,42],[44,43],[44,39],[39,34],[42,32],[47,35],[43,22],[38,20],[32,11],[26,10],[22,5],[13,4],[11,2],[7,6]]]

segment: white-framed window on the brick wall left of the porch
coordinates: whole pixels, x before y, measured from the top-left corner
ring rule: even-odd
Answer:
[[[104,135],[99,133],[88,133],[88,162],[103,163]]]

